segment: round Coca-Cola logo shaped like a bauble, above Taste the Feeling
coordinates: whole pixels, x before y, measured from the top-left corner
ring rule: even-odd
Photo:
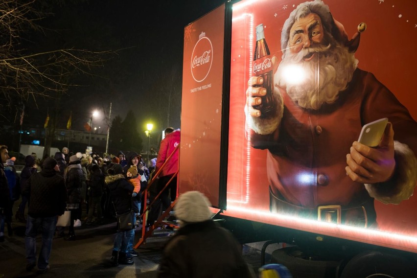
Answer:
[[[213,46],[202,32],[191,55],[191,74],[195,81],[201,82],[209,75],[213,63]]]

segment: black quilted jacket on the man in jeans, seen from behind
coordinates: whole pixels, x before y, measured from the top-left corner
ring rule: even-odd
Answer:
[[[62,215],[67,207],[67,192],[64,178],[54,169],[44,169],[33,174],[27,184],[30,204],[27,214],[31,217],[52,217]]]

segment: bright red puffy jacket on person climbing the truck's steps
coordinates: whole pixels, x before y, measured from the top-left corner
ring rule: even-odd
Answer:
[[[175,150],[175,153],[170,158],[170,160],[163,166],[162,172],[159,175],[160,177],[164,176],[172,176],[178,171],[178,159],[180,157],[180,150],[175,149],[180,144],[181,138],[181,131],[179,129],[174,130],[170,134],[166,135],[166,137],[161,141],[161,146],[158,152],[158,159],[156,162],[156,170],[162,167],[162,164],[165,160],[171,155],[171,153]]]

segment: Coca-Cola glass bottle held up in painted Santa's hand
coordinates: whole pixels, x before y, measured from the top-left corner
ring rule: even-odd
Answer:
[[[273,69],[271,54],[269,52],[268,45],[265,41],[265,35],[263,33],[263,24],[256,26],[256,46],[255,46],[255,55],[254,55],[254,76],[258,77],[258,81],[261,82],[263,79],[262,85],[254,85],[254,87],[262,87],[266,89],[266,94],[261,96],[261,104],[254,105],[253,107],[256,110],[261,112],[261,118],[267,118],[274,114],[276,107],[276,100],[273,95],[274,93],[274,84],[273,84]]]

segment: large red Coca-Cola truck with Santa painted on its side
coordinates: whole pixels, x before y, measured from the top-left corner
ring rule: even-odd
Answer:
[[[293,277],[415,277],[416,8],[228,1],[185,26],[179,193]]]

